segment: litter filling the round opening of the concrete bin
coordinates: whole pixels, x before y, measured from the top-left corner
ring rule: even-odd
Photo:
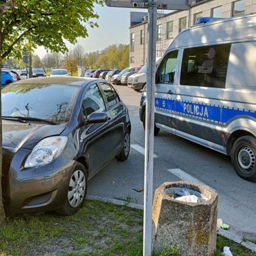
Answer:
[[[203,203],[209,200],[202,193],[187,188],[168,188],[166,193],[173,199],[189,203]]]

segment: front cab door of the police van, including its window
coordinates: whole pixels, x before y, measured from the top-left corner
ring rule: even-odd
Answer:
[[[178,49],[168,52],[156,71],[155,125],[167,131],[174,128],[172,116],[175,112],[179,54]]]

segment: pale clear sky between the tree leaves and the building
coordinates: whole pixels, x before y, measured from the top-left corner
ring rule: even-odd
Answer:
[[[98,28],[87,26],[88,38],[77,38],[77,43],[84,47],[85,52],[102,51],[111,44],[129,44],[129,24],[130,12],[142,11],[147,13],[147,9],[137,8],[117,8],[96,5],[95,12],[100,16],[97,19]],[[75,47],[69,42],[66,43],[68,49]],[[46,55],[44,47],[35,49],[35,54],[42,58]]]

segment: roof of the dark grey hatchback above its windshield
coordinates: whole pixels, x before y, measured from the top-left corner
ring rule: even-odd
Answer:
[[[19,84],[69,84],[82,86],[87,81],[105,81],[104,79],[93,79],[90,77],[64,76],[64,77],[38,77],[18,81]]]

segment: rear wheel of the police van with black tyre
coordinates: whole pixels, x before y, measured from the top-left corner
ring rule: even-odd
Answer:
[[[231,160],[240,177],[256,181],[256,138],[243,136],[237,139],[232,147]]]

